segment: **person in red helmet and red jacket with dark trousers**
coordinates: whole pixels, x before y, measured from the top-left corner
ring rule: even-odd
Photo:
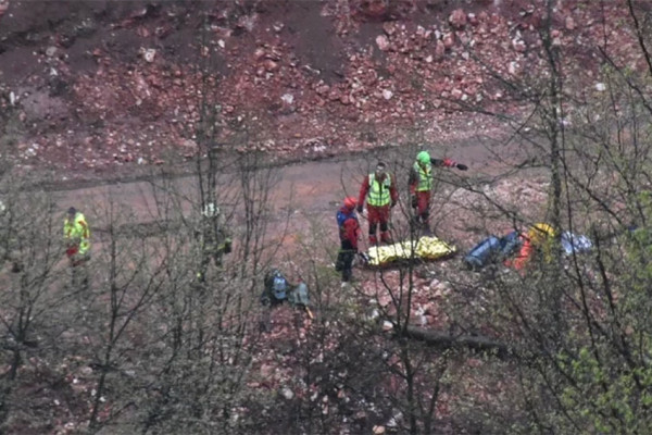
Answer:
[[[360,223],[355,214],[358,201],[354,197],[344,199],[343,206],[337,212],[337,226],[340,237],[340,250],[337,254],[335,270],[342,273],[342,283],[351,281],[353,275],[353,258],[358,253]]]

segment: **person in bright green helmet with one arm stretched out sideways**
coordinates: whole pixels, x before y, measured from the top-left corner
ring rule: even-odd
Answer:
[[[415,209],[415,222],[429,231],[430,198],[434,187],[432,166],[456,167],[460,171],[468,170],[468,166],[457,163],[452,159],[431,159],[428,151],[416,154],[416,161],[410,171],[410,197],[411,206]]]

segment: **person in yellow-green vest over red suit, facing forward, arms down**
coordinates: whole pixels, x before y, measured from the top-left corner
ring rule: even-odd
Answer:
[[[377,245],[376,229],[380,224],[380,241],[391,243],[389,236],[389,216],[390,209],[399,200],[396,182],[391,174],[386,171],[387,165],[378,162],[376,171],[365,177],[360,187],[360,199],[358,201],[358,212],[362,213],[362,207],[366,198],[367,219],[369,221],[369,245]]]

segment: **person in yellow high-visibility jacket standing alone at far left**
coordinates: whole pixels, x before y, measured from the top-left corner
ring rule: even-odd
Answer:
[[[84,214],[74,207],[68,209],[63,221],[63,238],[65,254],[73,271],[73,286],[77,285],[77,278],[80,278],[84,286],[88,286],[86,262],[90,260],[90,229]]]

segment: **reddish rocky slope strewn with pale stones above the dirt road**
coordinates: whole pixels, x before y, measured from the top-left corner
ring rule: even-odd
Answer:
[[[188,158],[202,101],[216,140],[294,158],[492,133],[455,103],[516,112],[488,73],[536,69],[538,3],[0,0],[2,153],[76,171]],[[625,12],[559,1],[554,45],[584,85],[602,35],[635,44],[610,28]]]

